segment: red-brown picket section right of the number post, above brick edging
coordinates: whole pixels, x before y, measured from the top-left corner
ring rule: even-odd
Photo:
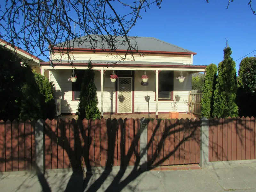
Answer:
[[[199,137],[199,119],[154,119],[148,123],[148,165],[199,163]]]

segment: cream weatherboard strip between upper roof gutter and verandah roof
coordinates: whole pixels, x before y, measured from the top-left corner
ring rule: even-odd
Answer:
[[[71,54],[71,53],[70,53]],[[60,59],[62,55],[62,60],[68,60],[68,56],[66,54],[60,54],[58,52],[52,54],[52,60]],[[74,60],[83,60],[84,62],[88,62],[88,60],[101,60],[101,61],[119,61],[124,58],[123,53],[119,53],[119,55],[110,55],[108,53],[93,53],[93,52],[74,52],[70,55],[70,59]],[[167,63],[191,63],[191,55],[166,55],[166,54],[145,54],[140,56],[139,54],[134,54],[135,61],[146,61],[146,62],[167,62]],[[127,55],[126,61],[133,60],[132,56]]]

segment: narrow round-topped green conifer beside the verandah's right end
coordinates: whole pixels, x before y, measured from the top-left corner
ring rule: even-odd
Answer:
[[[209,118],[213,111],[213,92],[215,90],[217,78],[217,66],[210,64],[205,69],[204,89],[202,93],[202,117]]]

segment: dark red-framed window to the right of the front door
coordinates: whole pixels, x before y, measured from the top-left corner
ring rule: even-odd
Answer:
[[[173,71],[160,71],[158,75],[158,99],[173,100]]]

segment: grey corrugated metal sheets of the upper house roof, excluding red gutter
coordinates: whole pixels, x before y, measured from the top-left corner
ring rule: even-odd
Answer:
[[[108,38],[108,36],[105,36]],[[103,41],[100,36],[92,36],[95,41],[92,41],[94,44],[93,48],[95,49],[111,49],[106,41]],[[154,37],[130,37],[131,38],[131,45],[139,51],[163,51],[163,52],[186,52],[186,53],[193,53],[192,51],[189,51],[187,49],[184,49],[182,47],[164,42],[162,40],[156,39]],[[74,39],[70,41],[70,46],[73,48],[88,48],[91,49],[91,41],[88,36],[82,36],[80,37],[80,42],[83,42],[83,44],[80,44],[78,40]],[[116,49],[117,50],[127,50],[128,44],[125,41],[124,37],[117,36],[115,38],[116,43]],[[62,45],[61,45],[62,44]],[[64,46],[65,42],[62,42],[61,44],[57,44],[56,46]],[[69,46],[69,44],[68,44]],[[65,45],[67,47],[67,44]]]

